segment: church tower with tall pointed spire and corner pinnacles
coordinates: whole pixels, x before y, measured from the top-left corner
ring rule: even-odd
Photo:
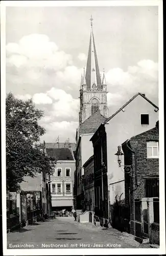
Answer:
[[[79,125],[99,110],[104,117],[108,118],[107,85],[104,72],[103,78],[101,79],[99,71],[97,51],[94,44],[92,20],[93,19],[91,17],[90,42],[86,71],[84,69],[84,74],[81,79]]]

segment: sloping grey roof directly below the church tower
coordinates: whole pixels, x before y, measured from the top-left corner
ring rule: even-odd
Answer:
[[[79,127],[79,135],[95,133],[98,127],[107,120],[106,117],[101,115],[100,110],[89,116]]]

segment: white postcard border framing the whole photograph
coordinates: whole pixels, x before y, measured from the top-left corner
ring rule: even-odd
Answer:
[[[3,204],[3,248],[4,255],[110,255],[110,254],[165,254],[165,205],[164,205],[164,112],[163,112],[163,7],[162,0],[115,0],[115,1],[3,1],[1,2],[1,117],[2,117],[2,190],[6,191],[6,152],[5,152],[5,98],[6,98],[6,72],[5,72],[5,20],[7,6],[158,6],[159,16],[159,175],[160,179],[160,248],[159,249],[6,249],[6,195],[2,197]],[[4,193],[6,194],[6,193]],[[161,224],[162,223],[162,224]]]

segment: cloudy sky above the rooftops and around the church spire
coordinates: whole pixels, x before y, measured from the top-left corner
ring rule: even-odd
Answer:
[[[44,110],[41,141],[75,142],[90,16],[109,116],[140,92],[158,105],[158,7],[7,7],[6,93]]]

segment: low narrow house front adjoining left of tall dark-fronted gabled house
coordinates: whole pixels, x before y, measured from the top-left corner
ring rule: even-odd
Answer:
[[[86,210],[94,211],[94,161],[91,156],[83,165],[84,168],[84,199]]]

